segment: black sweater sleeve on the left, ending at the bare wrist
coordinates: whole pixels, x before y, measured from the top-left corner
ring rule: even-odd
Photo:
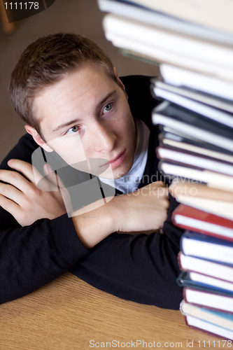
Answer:
[[[8,169],[10,158],[30,162],[33,142],[29,136],[22,137],[3,160],[1,169]],[[0,251],[0,303],[40,288],[89,253],[66,214],[52,221],[41,219],[21,227],[1,207]]]

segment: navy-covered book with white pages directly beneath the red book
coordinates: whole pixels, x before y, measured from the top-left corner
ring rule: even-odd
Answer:
[[[233,241],[186,230],[181,237],[181,251],[196,258],[233,265]]]

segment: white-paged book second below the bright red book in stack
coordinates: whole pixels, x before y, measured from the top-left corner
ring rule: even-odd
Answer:
[[[223,265],[201,258],[195,258],[190,255],[178,254],[178,263],[182,271],[198,272],[206,276],[233,283],[233,266]]]

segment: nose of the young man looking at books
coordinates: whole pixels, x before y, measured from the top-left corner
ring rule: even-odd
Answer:
[[[113,130],[104,125],[97,125],[93,135],[95,151],[112,151],[115,147],[116,139],[117,137]]]

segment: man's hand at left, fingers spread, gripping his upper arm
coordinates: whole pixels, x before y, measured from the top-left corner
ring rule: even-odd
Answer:
[[[0,180],[8,183],[0,183],[0,206],[12,214],[20,225],[31,225],[40,218],[52,219],[66,213],[62,195],[55,185],[43,179],[43,190],[36,187],[35,169],[31,164],[10,160],[8,165],[27,178],[18,172],[0,170]],[[55,180],[53,183],[56,183]]]

